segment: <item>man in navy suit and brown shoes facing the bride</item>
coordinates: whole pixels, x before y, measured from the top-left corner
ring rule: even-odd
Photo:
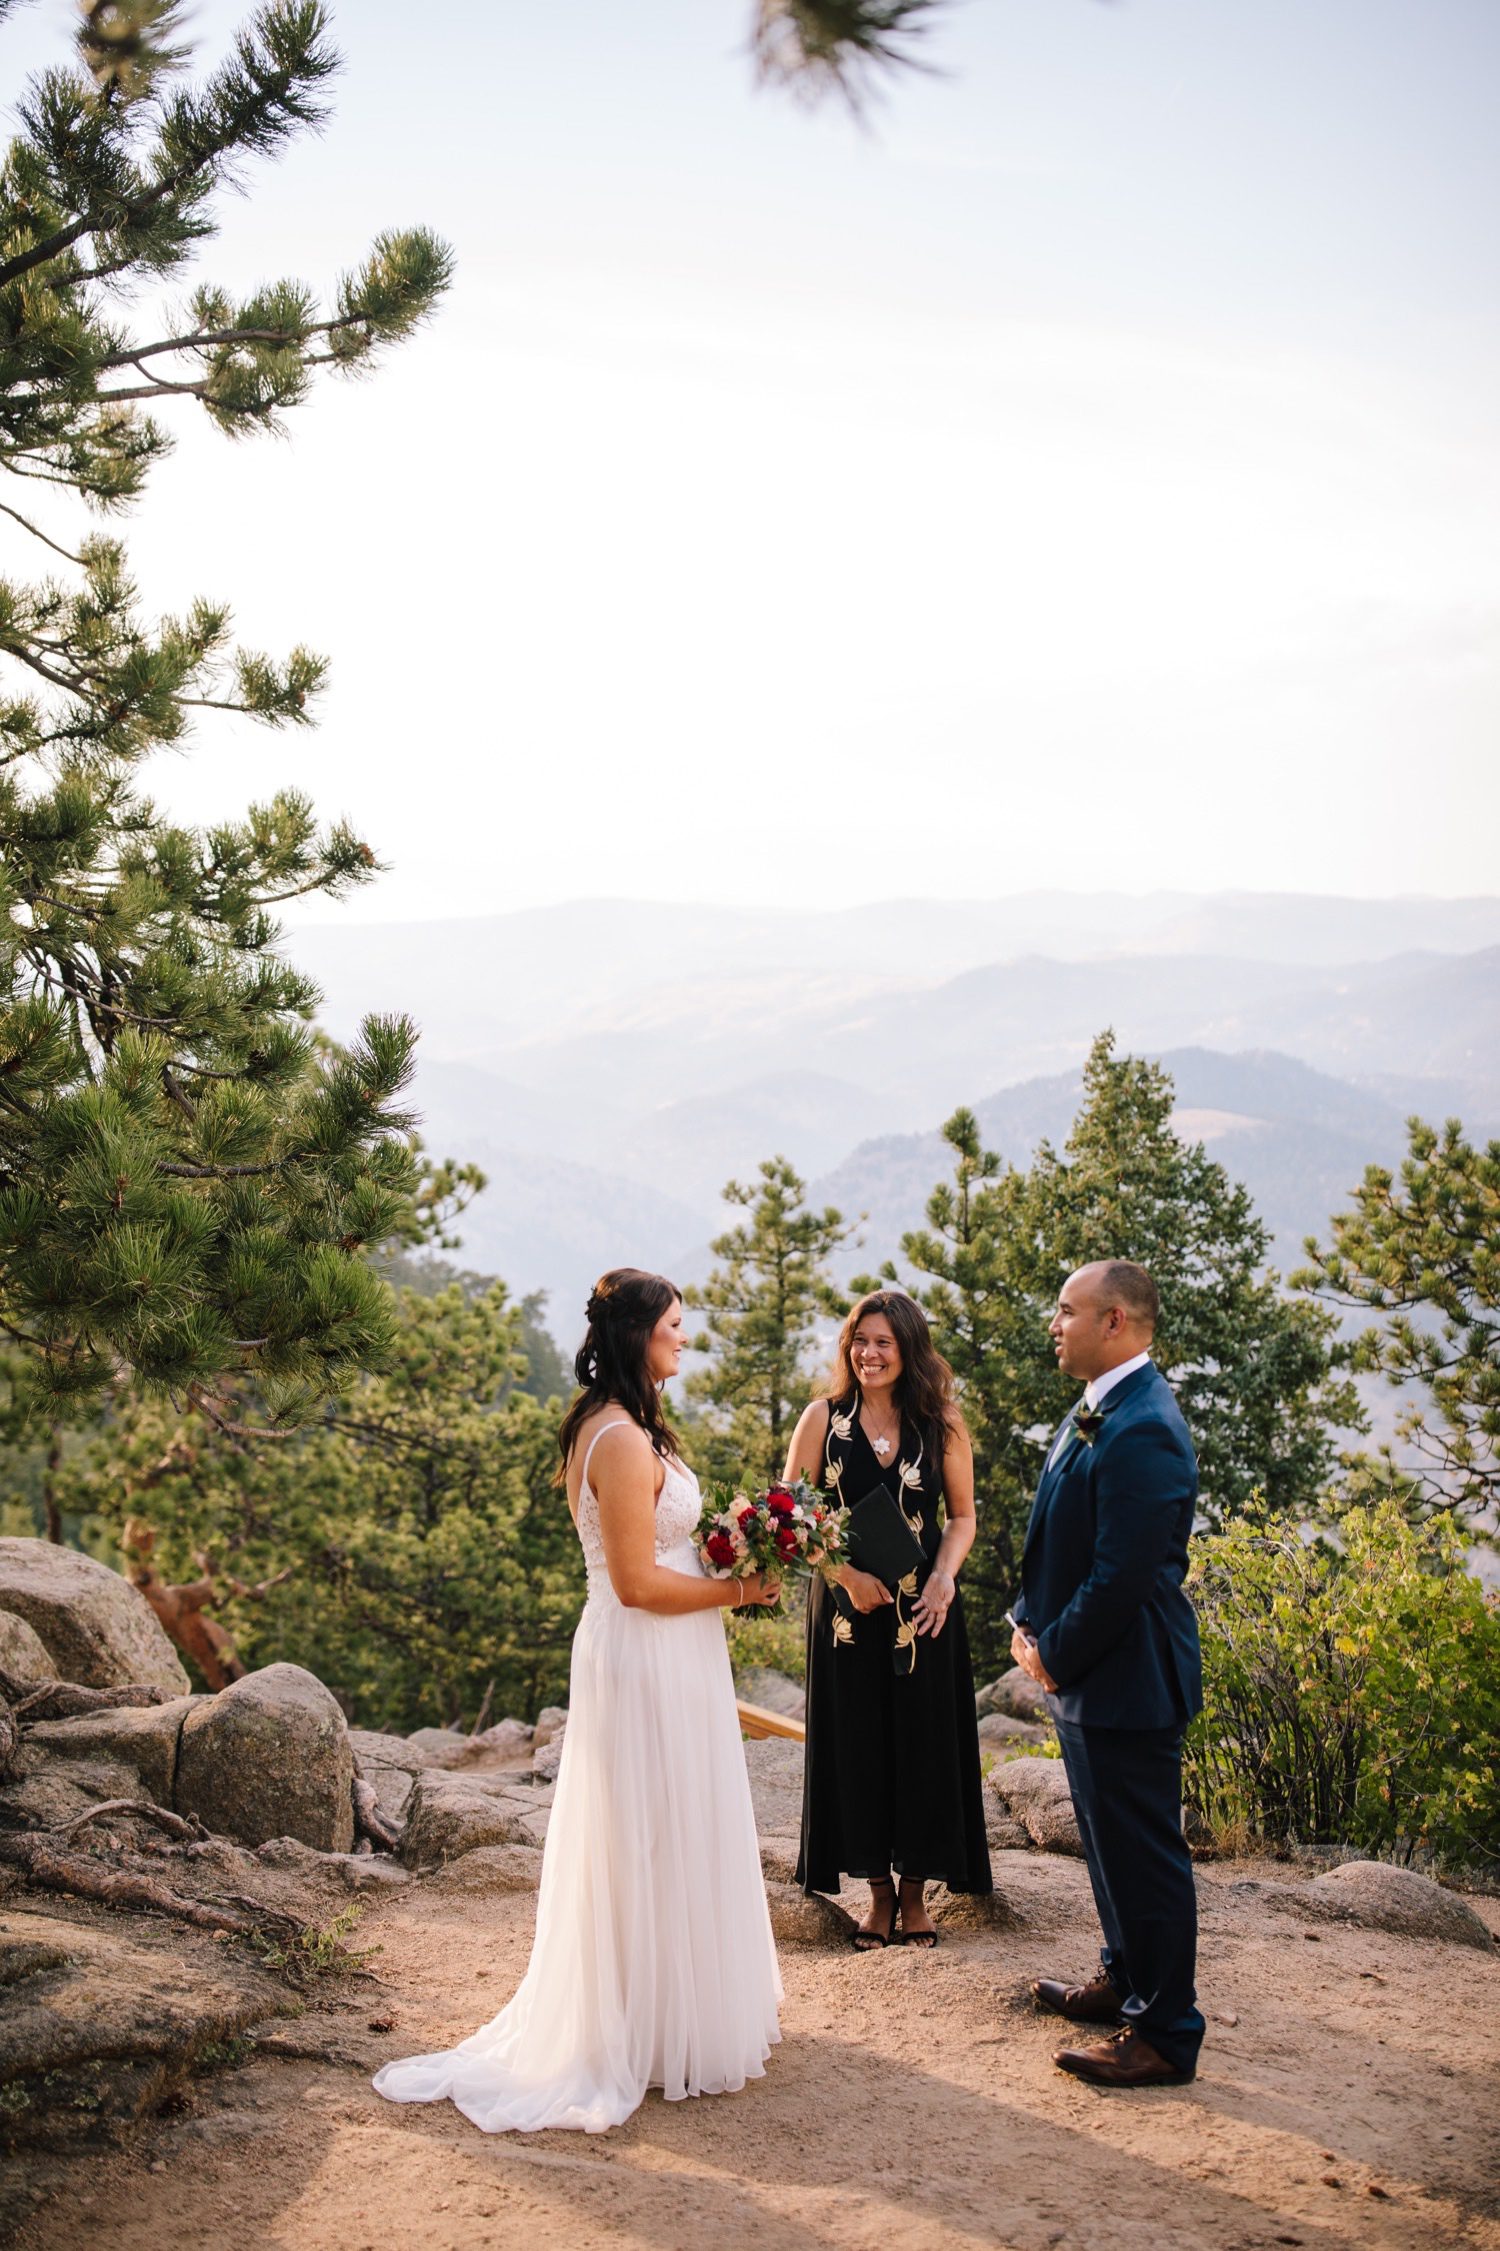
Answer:
[[[1032,1504],[1011,1657],[1047,1691],[1104,1925],[1088,1985],[1032,1992],[1072,2024],[1122,2026],[1054,2062],[1095,2087],[1191,2080],[1198,1913],[1182,1841],[1182,1731],[1203,1709],[1182,1594],[1198,1463],[1151,1366],[1155,1283],[1101,1258],[1063,1283],[1050,1335],[1083,1398]]]

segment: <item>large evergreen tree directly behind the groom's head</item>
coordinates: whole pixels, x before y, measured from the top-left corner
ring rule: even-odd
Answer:
[[[1200,1144],[1178,1141],[1171,1107],[1169,1074],[1115,1056],[1104,1033],[1065,1148],[1043,1141],[1027,1171],[1005,1166],[959,1110],[946,1126],[955,1180],[901,1243],[930,1276],[917,1294],[975,1438],[980,1537],[966,1580],[986,1661],[1009,1643],[1002,1612],[1043,1447],[1077,1393],[1047,1337],[1074,1267],[1135,1258],[1158,1283],[1153,1357],[1194,1434],[1212,1524],[1255,1490],[1279,1510],[1313,1510],[1333,1463],[1329,1425],[1358,1425],[1354,1387],[1331,1375],[1331,1315],[1282,1294],[1248,1191]]]

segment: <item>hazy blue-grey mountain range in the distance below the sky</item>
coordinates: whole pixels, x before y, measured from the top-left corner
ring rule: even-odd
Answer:
[[[896,1254],[953,1107],[1025,1162],[1065,1137],[1106,1024],[1173,1071],[1180,1130],[1282,1261],[1401,1153],[1408,1112],[1500,1121],[1500,898],[581,900],[288,943],[336,1035],[417,1017],[428,1146],[491,1175],[462,1256],[547,1290],[563,1342],[604,1265],[700,1274],[723,1182],[777,1153],[867,1213],[851,1265]]]

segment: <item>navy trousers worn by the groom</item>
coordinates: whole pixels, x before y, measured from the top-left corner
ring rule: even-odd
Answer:
[[[1194,1994],[1198,1895],[1182,1837],[1182,1729],[1056,1720],[1124,2021],[1173,2071],[1203,2044]]]

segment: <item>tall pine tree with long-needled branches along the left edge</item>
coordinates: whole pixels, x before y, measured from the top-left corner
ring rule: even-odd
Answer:
[[[236,648],[221,601],[146,617],[119,538],[14,504],[27,482],[117,513],[169,448],[149,401],[277,430],[313,369],[367,367],[446,286],[441,243],[383,234],[322,313],[295,281],[205,281],[140,333],[142,290],[248,158],[318,126],[336,68],[311,0],[261,7],[203,86],[176,34],[171,0],[83,7],[0,167],[0,511],[45,549],[0,581],[0,1330],[52,1418],[119,1371],[225,1420],[236,1380],[273,1414],[336,1389],[390,1337],[363,1252],[417,1191],[412,1026],[315,1047],[275,950],[273,909],[365,880],[369,846],[297,795],[191,833],[135,783],[203,711],[304,725],[322,662]]]

